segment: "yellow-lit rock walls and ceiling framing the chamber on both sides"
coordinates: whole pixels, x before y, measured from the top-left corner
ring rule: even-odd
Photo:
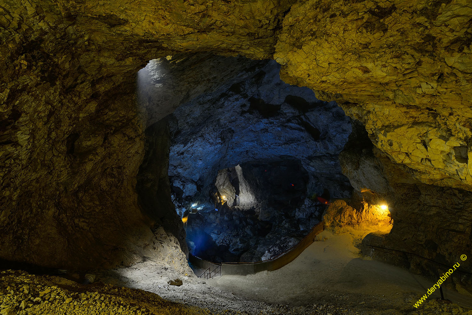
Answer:
[[[459,221],[448,259],[469,246],[470,1],[82,2],[2,3],[2,258],[81,268],[160,257],[143,250],[155,236],[135,192],[157,115],[136,106],[135,75],[148,60],[201,51],[273,57],[287,83],[362,122],[402,179],[396,194],[416,191],[412,177],[437,187],[411,195],[414,209],[401,204],[392,240],[419,235],[402,244],[413,251],[431,233],[445,246]],[[447,215],[425,221],[431,202]]]

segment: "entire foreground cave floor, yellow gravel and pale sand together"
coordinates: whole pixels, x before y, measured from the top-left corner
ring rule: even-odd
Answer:
[[[433,294],[427,303],[414,308],[432,281],[362,259],[354,244],[368,232],[323,231],[292,263],[248,276],[204,280],[152,261],[96,272],[97,282],[90,285],[2,272],[0,314],[472,315],[472,297],[447,289],[445,296],[454,303],[440,302]],[[2,282],[5,279],[35,284],[24,289],[24,284]],[[183,284],[169,285],[174,279]],[[21,310],[23,300],[27,303]]]

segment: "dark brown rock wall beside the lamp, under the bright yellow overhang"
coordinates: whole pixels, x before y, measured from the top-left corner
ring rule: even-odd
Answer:
[[[472,193],[421,183],[413,178],[405,165],[391,162],[385,153],[373,147],[362,125],[353,122],[353,129],[345,149],[339,154],[343,172],[357,193],[371,190],[379,199],[385,200],[393,219],[390,233],[370,234],[364,238],[363,254],[429,275],[431,279],[437,279],[448,270],[439,264],[452,266],[459,262],[461,270],[470,272],[470,260],[462,261],[460,256],[469,256],[472,252]],[[357,214],[352,220],[356,223],[360,213],[351,212]],[[344,212],[344,216],[346,213],[349,214]],[[343,221],[344,217],[329,215],[329,219],[336,226],[337,221]],[[361,218],[361,221],[365,219]],[[372,251],[368,245],[412,254],[383,249]],[[457,289],[468,286],[470,289],[472,276],[457,272],[447,285]]]

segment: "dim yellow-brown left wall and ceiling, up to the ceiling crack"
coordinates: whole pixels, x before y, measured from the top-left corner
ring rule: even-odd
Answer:
[[[155,116],[136,104],[136,73],[176,51],[270,57],[288,8],[2,1],[0,257],[60,268],[159,257],[143,249],[156,237],[135,192]]]

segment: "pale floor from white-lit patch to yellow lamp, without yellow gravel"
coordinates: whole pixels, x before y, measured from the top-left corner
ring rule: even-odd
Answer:
[[[433,285],[421,276],[378,261],[362,259],[360,244],[371,231],[323,231],[292,263],[273,272],[247,276],[223,275],[209,280],[169,276],[159,264],[144,262],[100,275],[101,281],[155,292],[162,298],[211,310],[229,309],[247,314],[466,314],[472,297],[444,290],[455,304],[436,300],[416,309],[413,304]],[[180,287],[168,285],[171,278]],[[458,307],[464,307],[463,310]],[[450,313],[444,313],[444,307]],[[436,313],[435,310],[440,313]],[[456,311],[454,311],[456,309]],[[315,312],[316,311],[316,312]],[[416,312],[416,313],[415,313]]]

